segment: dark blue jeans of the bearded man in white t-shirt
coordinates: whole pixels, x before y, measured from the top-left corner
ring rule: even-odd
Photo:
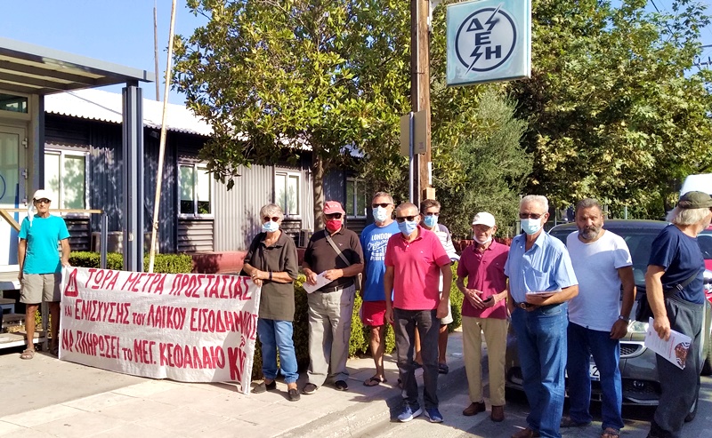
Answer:
[[[566,365],[569,371],[570,418],[577,423],[588,423],[593,419],[588,411],[591,402],[591,354],[601,376],[602,427],[620,430],[623,428],[620,414],[623,390],[618,367],[619,340],[611,339],[609,331],[590,330],[574,323],[569,323],[569,362]]]

